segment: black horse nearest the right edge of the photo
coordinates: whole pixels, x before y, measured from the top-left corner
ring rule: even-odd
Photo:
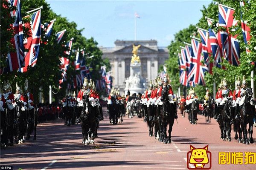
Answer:
[[[252,89],[248,88],[245,90],[244,104],[241,106],[240,116],[241,116],[241,131],[244,134],[244,144],[253,143],[253,116],[255,113],[255,108],[250,103],[253,102],[253,92]],[[249,138],[247,136],[247,124],[249,124]]]

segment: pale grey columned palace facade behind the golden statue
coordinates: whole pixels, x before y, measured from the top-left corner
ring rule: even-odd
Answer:
[[[130,76],[133,44],[141,45],[138,51],[141,76],[148,81],[157,78],[159,67],[169,58],[169,50],[158,47],[156,40],[116,40],[114,47],[99,47],[103,52],[102,58],[108,58],[111,63],[113,87],[119,88],[121,94],[124,92],[125,79]]]

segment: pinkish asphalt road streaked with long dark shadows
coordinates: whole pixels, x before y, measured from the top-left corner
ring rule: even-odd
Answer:
[[[255,164],[218,164],[219,152],[256,152],[255,143],[239,144],[233,139],[233,132],[231,142],[222,141],[215,120],[205,123],[204,116],[198,115],[198,124],[193,125],[187,117],[178,116],[171,144],[149,137],[146,123],[136,117],[130,119],[126,116],[118,125],[109,124],[105,118],[100,122],[95,145],[87,146],[82,144],[80,124],[66,127],[63,120],[39,124],[36,141],[1,150],[1,165],[13,165],[14,169],[24,170],[186,170],[190,144],[198,148],[209,144],[212,170],[256,169]]]

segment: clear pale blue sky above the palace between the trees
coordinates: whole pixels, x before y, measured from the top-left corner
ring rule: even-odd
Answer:
[[[99,46],[112,47],[115,40],[134,40],[134,12],[137,40],[157,40],[168,46],[174,34],[201,18],[200,9],[211,0],[47,0],[56,14],[75,21],[83,35],[94,37]]]

